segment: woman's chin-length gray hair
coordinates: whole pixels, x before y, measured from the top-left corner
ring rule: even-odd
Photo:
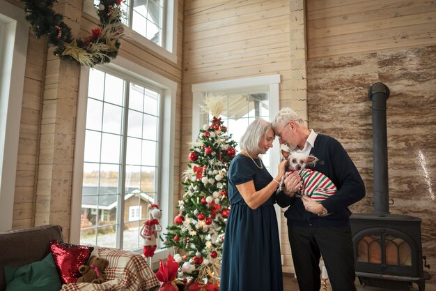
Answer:
[[[239,147],[251,154],[259,154],[262,150],[259,147],[260,140],[268,130],[272,129],[272,124],[265,119],[255,119],[249,124],[239,142]]]

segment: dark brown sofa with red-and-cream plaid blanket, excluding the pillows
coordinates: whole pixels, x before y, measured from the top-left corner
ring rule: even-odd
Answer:
[[[6,290],[5,266],[22,267],[45,259],[53,240],[63,241],[59,225],[0,232],[0,291]],[[62,291],[159,290],[159,281],[141,254],[98,246],[93,249],[93,255],[109,260],[109,266],[104,271],[107,282],[101,285],[68,283],[62,285]]]

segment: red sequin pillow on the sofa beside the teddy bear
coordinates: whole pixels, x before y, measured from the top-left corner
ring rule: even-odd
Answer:
[[[63,284],[76,283],[81,276],[79,267],[86,264],[93,249],[92,246],[66,244],[56,239],[50,241],[50,252]]]

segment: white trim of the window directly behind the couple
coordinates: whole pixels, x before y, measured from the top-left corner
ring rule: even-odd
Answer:
[[[244,89],[249,91],[268,90],[270,92],[270,114],[275,114],[275,112],[279,112],[279,84],[280,74],[192,84],[192,140],[197,139],[200,128],[203,124],[207,123],[208,114],[203,112],[200,107],[200,105],[203,105],[205,94],[209,92],[226,94],[227,91],[241,91]],[[277,175],[277,168],[280,163],[281,154],[279,139],[275,139],[273,145],[274,147],[270,149],[270,171],[274,177]],[[279,239],[281,245],[281,211],[277,204],[274,204],[274,207],[276,209],[277,223],[279,225]]]

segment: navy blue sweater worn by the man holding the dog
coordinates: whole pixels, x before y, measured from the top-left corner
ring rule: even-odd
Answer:
[[[365,196],[365,185],[355,164],[351,161],[342,144],[333,137],[318,134],[311,155],[318,158],[312,170],[322,172],[329,177],[338,191],[321,202],[331,213],[328,216],[317,216],[304,209],[301,198],[288,197],[283,193],[276,196],[280,207],[289,207],[285,211],[288,226],[347,226],[350,225],[351,211],[348,207]]]

